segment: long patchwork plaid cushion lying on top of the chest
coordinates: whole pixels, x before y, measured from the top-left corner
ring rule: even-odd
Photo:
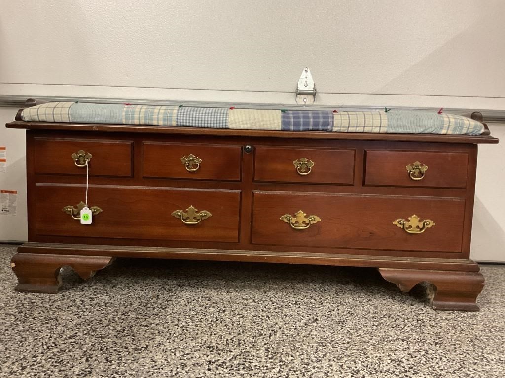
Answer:
[[[25,121],[152,124],[235,130],[481,135],[471,118],[433,111],[254,110],[52,102],[26,108]]]

